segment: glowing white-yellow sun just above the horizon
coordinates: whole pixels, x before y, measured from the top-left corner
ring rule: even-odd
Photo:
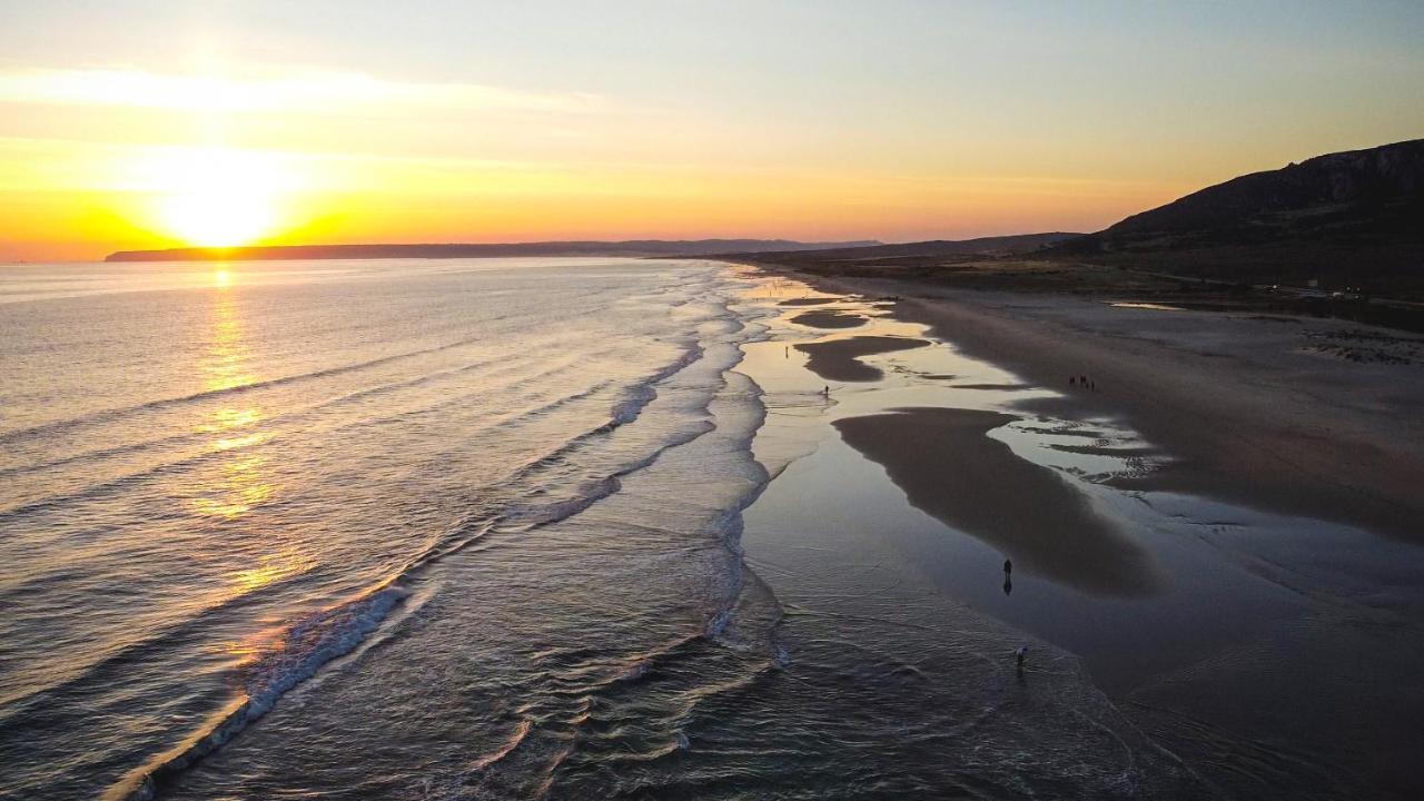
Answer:
[[[198,247],[246,245],[279,222],[281,171],[263,154],[182,150],[148,165],[158,191],[158,224]]]

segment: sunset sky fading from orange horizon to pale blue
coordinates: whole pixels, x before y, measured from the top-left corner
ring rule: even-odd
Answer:
[[[0,0],[0,261],[1095,231],[1424,137],[1424,3]]]

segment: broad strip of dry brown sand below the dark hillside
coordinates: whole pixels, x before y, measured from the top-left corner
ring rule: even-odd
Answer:
[[[1125,420],[1173,462],[1122,489],[1203,495],[1424,543],[1424,362],[1356,363],[1292,348],[1363,326],[753,267],[819,291],[894,298],[896,318],[1069,392],[1025,410]],[[1096,391],[1077,392],[1069,375],[1091,376]]]

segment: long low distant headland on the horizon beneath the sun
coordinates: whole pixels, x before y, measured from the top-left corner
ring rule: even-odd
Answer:
[[[335,258],[494,258],[494,257],[705,257],[731,252],[815,251],[879,245],[852,242],[796,242],[792,239],[627,239],[504,244],[423,245],[258,245],[242,248],[167,248],[118,251],[104,261],[285,261]]]

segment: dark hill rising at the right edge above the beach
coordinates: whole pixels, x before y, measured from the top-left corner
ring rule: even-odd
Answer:
[[[1252,172],[1064,242],[1089,258],[1247,284],[1424,286],[1424,140]]]

